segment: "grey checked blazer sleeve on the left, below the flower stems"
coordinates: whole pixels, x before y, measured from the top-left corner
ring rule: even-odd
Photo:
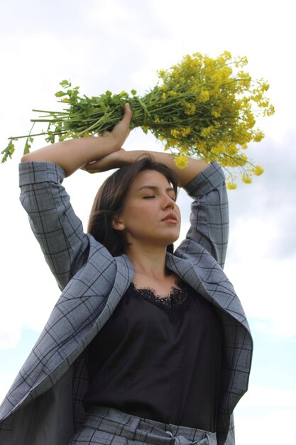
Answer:
[[[65,172],[50,162],[24,162],[19,171],[21,204],[58,286],[64,289],[89,252],[89,237],[61,185]]]

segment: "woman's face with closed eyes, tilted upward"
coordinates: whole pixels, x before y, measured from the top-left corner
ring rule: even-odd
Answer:
[[[125,230],[133,245],[166,247],[180,235],[180,210],[168,179],[155,170],[138,173],[124,200],[114,228]]]

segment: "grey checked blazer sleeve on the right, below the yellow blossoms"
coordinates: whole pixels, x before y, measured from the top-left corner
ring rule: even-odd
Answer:
[[[213,162],[199,173],[185,190],[194,201],[191,206],[190,229],[176,254],[197,252],[197,245],[212,254],[224,267],[229,234],[229,208],[224,173]]]

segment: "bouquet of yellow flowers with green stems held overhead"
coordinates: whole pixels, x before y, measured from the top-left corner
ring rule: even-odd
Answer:
[[[24,153],[31,148],[34,136],[45,135],[46,141],[92,136],[110,131],[123,116],[124,104],[129,102],[133,117],[131,128],[141,127],[163,141],[164,149],[175,155],[180,168],[187,166],[187,157],[218,161],[229,172],[229,188],[236,188],[239,170],[245,183],[253,174],[263,173],[245,154],[248,143],[261,141],[264,134],[254,128],[258,115],[274,112],[265,92],[265,80],[253,80],[243,71],[246,57],[233,58],[228,51],[217,58],[194,53],[185,55],[180,63],[168,70],[158,71],[158,82],[146,95],[139,97],[135,90],[112,95],[110,91],[96,97],[80,96],[79,87],[67,80],[60,82],[55,93],[66,105],[62,111],[43,113],[31,122],[48,124],[46,131],[9,138],[1,152],[2,162],[11,157],[13,141],[26,138]],[[33,125],[34,125],[33,124]]]

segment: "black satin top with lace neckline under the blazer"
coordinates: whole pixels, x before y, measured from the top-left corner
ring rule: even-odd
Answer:
[[[129,286],[89,345],[86,408],[216,431],[221,323],[212,304],[178,286],[165,298]]]

